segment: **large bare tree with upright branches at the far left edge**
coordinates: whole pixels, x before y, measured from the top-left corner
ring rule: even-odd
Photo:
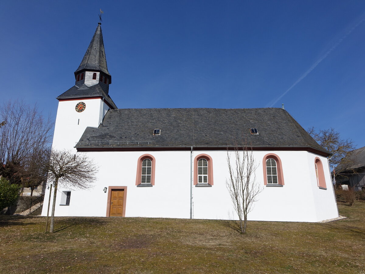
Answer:
[[[21,100],[3,103],[0,107],[0,175],[11,183],[21,183],[19,167],[27,164],[35,150],[50,144],[53,123],[44,118],[37,105]]]

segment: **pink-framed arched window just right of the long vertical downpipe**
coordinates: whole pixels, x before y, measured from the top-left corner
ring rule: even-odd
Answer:
[[[194,186],[213,185],[213,160],[207,154],[199,154],[194,159]]]

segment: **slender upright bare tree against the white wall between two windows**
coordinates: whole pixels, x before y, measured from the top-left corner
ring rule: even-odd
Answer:
[[[243,146],[241,150],[238,145],[234,150],[234,160],[231,160],[231,152],[227,151],[227,163],[230,177],[226,179],[226,186],[238,214],[240,232],[245,233],[247,214],[253,209],[253,203],[261,192],[255,175],[258,164],[252,149]]]

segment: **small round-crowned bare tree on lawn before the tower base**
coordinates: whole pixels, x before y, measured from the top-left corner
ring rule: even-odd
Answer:
[[[58,183],[64,187],[88,189],[96,179],[99,167],[84,153],[52,150],[47,164],[48,180],[54,181],[50,231],[54,228],[54,210]]]

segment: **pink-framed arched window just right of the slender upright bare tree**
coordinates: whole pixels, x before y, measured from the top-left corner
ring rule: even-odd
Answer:
[[[262,159],[265,186],[284,186],[283,167],[279,156],[269,153]]]

